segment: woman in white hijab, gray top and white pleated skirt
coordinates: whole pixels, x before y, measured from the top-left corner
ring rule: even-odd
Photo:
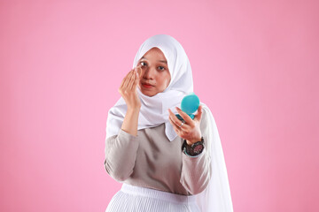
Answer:
[[[200,102],[191,119],[179,109],[192,91],[182,45],[167,34],[147,39],[121,82],[120,100],[108,112],[105,170],[123,185],[107,212],[232,211],[211,111]]]

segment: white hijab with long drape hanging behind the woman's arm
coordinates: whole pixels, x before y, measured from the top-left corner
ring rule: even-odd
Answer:
[[[137,93],[142,103],[137,129],[165,123],[167,139],[173,141],[177,134],[168,121],[168,109],[177,113],[175,107],[180,107],[183,97],[193,92],[191,64],[182,45],[175,38],[167,34],[157,34],[140,46],[134,59],[133,68],[136,67],[138,60],[153,47],[159,48],[167,58],[171,80],[163,92],[153,96],[144,95],[137,87]],[[208,151],[206,153],[211,159],[212,178],[206,190],[197,194],[198,207],[202,212],[232,212],[230,186],[217,126],[211,111],[203,102],[200,104],[203,105],[203,110],[206,110],[208,115],[209,134],[207,135]],[[127,109],[127,105],[121,97],[108,111],[106,139],[119,133]]]

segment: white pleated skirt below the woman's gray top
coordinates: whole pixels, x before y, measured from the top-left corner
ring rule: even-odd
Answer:
[[[105,212],[200,212],[195,196],[123,184]]]

